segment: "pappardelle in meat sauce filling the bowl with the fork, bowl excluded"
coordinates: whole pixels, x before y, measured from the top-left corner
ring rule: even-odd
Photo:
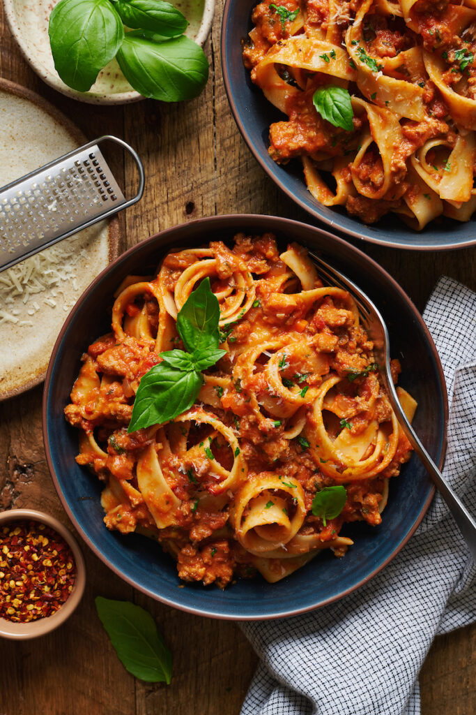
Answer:
[[[183,320],[207,286],[202,325],[215,303],[220,344],[208,363],[210,347],[190,357],[197,336]],[[270,234],[169,253],[156,277],[127,277],[65,409],[80,430],[76,461],[104,483],[106,526],[156,538],[183,581],[221,588],[256,571],[279,581],[323,549],[343,556],[353,541],[341,529],[381,523],[411,450],[372,351],[348,292]],[[169,379],[175,361],[186,380],[189,359],[202,370],[192,403],[131,431],[154,371]],[[173,390],[165,410],[181,399]],[[415,400],[397,390],[411,419]]]

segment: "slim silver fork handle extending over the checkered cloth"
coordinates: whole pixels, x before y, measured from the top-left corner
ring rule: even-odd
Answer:
[[[455,522],[457,523],[457,526],[462,533],[462,537],[465,539],[467,546],[470,549],[473,561],[476,562],[476,521],[471,516],[470,512],[467,511],[467,508],[462,503],[459,496],[455,493],[454,490],[452,490],[450,485],[447,483],[447,480],[437,468],[437,465],[435,465],[432,458],[427,453],[427,450],[425,450],[425,447],[420,442],[420,439],[417,437],[417,433],[415,433],[415,430],[412,428],[412,425],[408,421],[407,415],[405,415],[402,408],[400,407],[400,401],[397,398],[397,393],[395,392],[395,388],[393,388],[393,385],[391,385],[390,389],[393,389],[395,393],[395,411],[398,413],[397,417],[400,423],[400,427],[405,432],[405,435],[407,435],[407,438],[410,441],[412,448],[419,456],[423,466],[430,475],[430,478],[432,479],[433,483],[435,483],[437,490],[440,492],[442,498],[447,503],[447,506],[450,509],[450,512],[452,513],[452,516],[455,519]]]

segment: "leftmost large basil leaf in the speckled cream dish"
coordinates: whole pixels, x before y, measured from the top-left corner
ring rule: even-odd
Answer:
[[[124,39],[121,18],[108,0],[61,0],[48,31],[56,71],[79,92],[91,88]]]

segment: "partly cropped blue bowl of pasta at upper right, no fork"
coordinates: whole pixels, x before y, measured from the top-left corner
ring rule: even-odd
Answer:
[[[475,26],[468,3],[227,0],[228,102],[320,222],[406,249],[474,245]]]

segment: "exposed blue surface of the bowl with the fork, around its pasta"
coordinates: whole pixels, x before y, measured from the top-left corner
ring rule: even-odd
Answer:
[[[447,400],[440,360],[424,322],[399,285],[373,260],[347,242],[305,224],[270,216],[232,215],[193,221],[163,231],[128,250],[91,283],[71,311],[51,356],[44,389],[44,441],[51,475],[71,521],[83,539],[125,581],[158,601],[216,618],[258,619],[288,616],[335,601],[380,571],[412,535],[432,498],[432,486],[412,456],[399,478],[391,480],[383,524],[346,526],[355,540],[345,558],[323,553],[275,584],[258,577],[238,581],[225,591],[178,580],[176,563],[150,539],[108,531],[96,475],[76,464],[78,431],[64,418],[81,354],[110,330],[113,292],[132,273],[147,275],[176,247],[231,239],[238,231],[272,231],[282,245],[289,240],[318,250],[361,285],[383,312],[392,355],[402,362],[401,384],[418,400],[415,428],[435,462],[442,460]]]

